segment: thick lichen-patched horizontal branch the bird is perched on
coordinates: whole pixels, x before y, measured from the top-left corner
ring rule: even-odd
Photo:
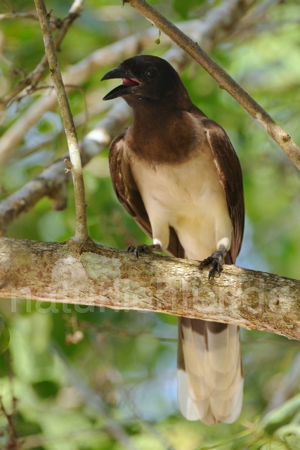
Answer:
[[[136,259],[92,241],[0,238],[0,297],[158,311],[300,340],[298,280],[224,266],[209,281],[199,262]]]

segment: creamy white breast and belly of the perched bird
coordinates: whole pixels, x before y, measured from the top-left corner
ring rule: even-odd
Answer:
[[[157,221],[172,226],[189,259],[203,259],[216,250],[216,231],[224,218],[221,234],[230,240],[226,196],[210,148],[176,165],[150,165],[128,148],[126,153],[153,231]],[[153,238],[160,236],[153,233]]]

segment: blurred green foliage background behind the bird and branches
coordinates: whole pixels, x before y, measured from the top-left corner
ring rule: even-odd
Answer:
[[[152,0],[173,22],[200,18],[221,1]],[[63,18],[71,1],[48,0]],[[119,0],[88,0],[61,46],[65,70],[89,53],[150,27]],[[258,0],[266,8],[256,23],[228,36],[211,55],[300,143],[300,30],[298,0]],[[1,0],[0,14],[34,13],[31,0]],[[168,46],[144,53],[163,56]],[[0,96],[10,91],[44,54],[36,20],[0,20]],[[105,113],[110,90],[95,72],[81,87],[89,121]],[[237,264],[299,278],[300,181],[292,162],[233,98],[191,62],[181,74],[191,98],[227,131],[244,174],[246,229]],[[74,79],[76,84],[76,79]],[[115,84],[111,84],[114,85]],[[11,103],[0,134],[45,91]],[[84,98],[70,93],[72,113]],[[106,105],[105,107],[110,107]],[[82,122],[82,120],[81,120]],[[84,122],[84,121],[83,121]],[[58,108],[40,117],[0,167],[0,200],[18,190],[66,151]],[[91,238],[126,248],[145,236],[112,191],[107,151],[84,169]],[[8,227],[6,236],[63,241],[74,233],[74,200],[51,210],[44,198]],[[176,318],[162,314],[1,301],[11,343],[0,356],[0,448],[38,450],[300,449],[299,342],[242,330],[245,387],[242,416],[212,428],[188,422],[176,399]],[[13,413],[13,422],[6,414]],[[13,446],[14,445],[14,446]]]

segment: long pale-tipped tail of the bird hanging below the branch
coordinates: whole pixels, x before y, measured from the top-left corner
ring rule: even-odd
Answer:
[[[178,317],[178,401],[188,420],[233,423],[242,409],[240,328]]]

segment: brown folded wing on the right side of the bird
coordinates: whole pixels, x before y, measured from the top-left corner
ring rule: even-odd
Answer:
[[[207,140],[214,155],[214,163],[219,179],[226,194],[228,210],[233,226],[230,251],[226,255],[226,264],[234,264],[242,245],[244,232],[244,192],[242,187],[242,169],[226,131],[210,120],[203,117],[197,107],[190,113],[200,118],[204,125]]]

